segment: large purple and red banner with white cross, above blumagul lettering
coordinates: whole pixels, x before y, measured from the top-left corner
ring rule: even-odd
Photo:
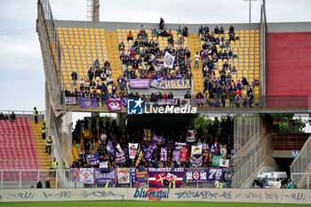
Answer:
[[[181,187],[183,176],[184,168],[175,168],[172,173],[171,168],[148,168],[149,187],[169,187],[172,179],[176,187]]]

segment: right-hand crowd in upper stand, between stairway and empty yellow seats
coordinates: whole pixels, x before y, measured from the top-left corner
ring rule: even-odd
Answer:
[[[236,74],[236,68],[228,61],[234,62],[237,56],[230,49],[230,43],[238,40],[239,37],[235,36],[233,25],[228,29],[229,39],[225,39],[224,33],[222,26],[220,28],[216,26],[213,31],[207,25],[199,28],[198,34],[203,45],[200,55],[196,54],[195,56],[195,65],[199,68],[198,62],[201,57],[204,78],[203,96],[207,92],[206,98],[221,100],[222,107],[226,107],[226,100],[229,100],[229,107],[252,107],[254,87],[259,84],[259,81],[255,80],[249,84],[245,77],[242,80],[236,80],[236,82],[232,78],[232,75]],[[217,50],[218,45],[219,51]],[[223,62],[221,68],[217,68],[219,60]],[[246,91],[245,94],[243,94],[243,90]]]

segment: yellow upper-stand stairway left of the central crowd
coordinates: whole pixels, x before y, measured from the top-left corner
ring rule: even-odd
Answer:
[[[123,76],[121,60],[119,58],[119,48],[117,44],[116,32],[106,32],[106,42],[108,50],[108,61],[110,62],[111,77],[114,84],[117,84],[117,78]]]

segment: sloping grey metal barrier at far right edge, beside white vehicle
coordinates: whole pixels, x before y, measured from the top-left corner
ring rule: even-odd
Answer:
[[[298,156],[291,163],[291,174],[295,173],[297,185],[304,179],[306,173],[311,167],[311,136],[307,139],[305,145],[301,148]]]

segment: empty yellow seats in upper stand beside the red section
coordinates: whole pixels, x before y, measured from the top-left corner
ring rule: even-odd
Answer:
[[[219,39],[221,36],[224,36],[226,40],[229,39],[227,30],[224,35],[215,35],[215,37],[217,36]],[[239,40],[231,41],[229,49],[234,52],[237,58],[229,59],[227,62],[236,68],[236,73],[232,74],[232,79],[236,83],[237,80],[242,81],[242,77],[245,77],[251,85],[255,79],[259,80],[259,30],[235,30],[235,36],[239,36]],[[201,46],[203,43],[201,40]],[[219,51],[219,44],[216,44],[216,47]],[[219,59],[215,67],[222,68],[223,63]],[[246,91],[243,91],[243,94],[245,93]],[[259,87],[254,88],[254,98],[255,100],[259,98]]]

